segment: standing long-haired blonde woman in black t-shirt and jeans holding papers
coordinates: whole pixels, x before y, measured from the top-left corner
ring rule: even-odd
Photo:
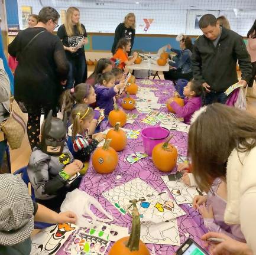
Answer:
[[[71,89],[79,83],[87,80],[87,65],[83,45],[88,43],[85,26],[80,24],[80,12],[76,7],[70,7],[66,12],[65,24],[61,25],[57,35],[63,42],[70,70],[67,79],[66,89]],[[83,40],[80,48],[79,42]]]

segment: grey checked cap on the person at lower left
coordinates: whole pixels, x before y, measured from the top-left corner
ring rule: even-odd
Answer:
[[[34,206],[19,175],[0,174],[0,245],[12,246],[34,230]]]

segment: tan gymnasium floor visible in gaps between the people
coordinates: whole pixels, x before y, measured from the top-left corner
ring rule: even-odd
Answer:
[[[94,66],[88,66],[88,76],[93,72]],[[160,74],[160,78],[164,79],[163,74]],[[256,89],[254,90],[256,94]],[[248,98],[248,112],[251,112],[256,116],[256,99]],[[11,151],[11,168],[12,172],[28,164],[30,158],[30,145],[28,143],[27,135],[24,137],[21,148]]]

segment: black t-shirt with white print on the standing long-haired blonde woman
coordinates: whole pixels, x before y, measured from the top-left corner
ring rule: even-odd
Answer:
[[[83,24],[81,25],[85,32],[83,34],[80,34],[76,25],[73,25],[73,31],[74,31],[73,36],[67,35],[66,28],[64,25],[61,25],[59,27],[57,35],[60,38],[60,40],[62,40],[64,46],[76,47],[76,45],[79,44],[79,42],[82,40],[83,37],[87,37],[85,26]],[[85,54],[85,50],[83,49],[83,47],[79,48],[75,53],[71,53],[70,51],[65,51],[65,52],[68,59],[76,57],[77,55],[80,55],[80,54]]]

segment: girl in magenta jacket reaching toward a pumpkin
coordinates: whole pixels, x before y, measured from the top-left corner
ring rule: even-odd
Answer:
[[[190,124],[193,113],[202,106],[202,93],[202,84],[199,81],[191,80],[183,89],[185,96],[184,106],[180,106],[174,102],[173,98],[168,99],[167,104],[170,104],[178,117],[184,118],[184,123]]]

